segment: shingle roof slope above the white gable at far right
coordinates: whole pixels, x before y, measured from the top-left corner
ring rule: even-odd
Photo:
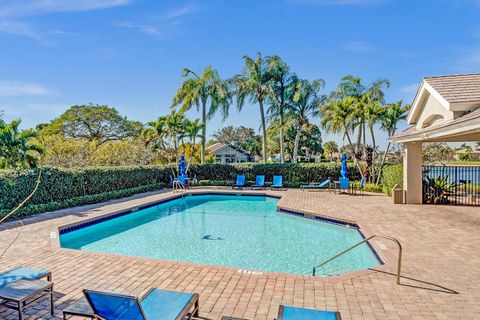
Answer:
[[[450,103],[480,103],[480,73],[426,77],[425,81]]]

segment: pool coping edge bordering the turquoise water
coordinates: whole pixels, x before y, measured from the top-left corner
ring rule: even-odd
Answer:
[[[352,277],[359,277],[359,276],[364,276],[368,275],[377,271],[391,271],[390,266],[392,261],[390,258],[380,250],[381,248],[378,248],[375,243],[367,242],[368,246],[370,247],[370,250],[373,252],[375,257],[377,258],[379,265],[375,266],[373,268],[368,268],[368,269],[360,269],[360,270],[355,270],[355,271],[350,271],[343,273],[341,275],[337,276],[332,276],[332,277],[322,277],[322,276],[313,276],[313,275],[302,275],[302,274],[291,274],[291,273],[283,273],[283,272],[273,272],[273,271],[263,271],[263,270],[250,270],[250,269],[239,269],[238,267],[229,267],[229,266],[218,266],[218,265],[209,265],[209,264],[201,264],[201,263],[191,263],[191,262],[182,262],[182,261],[176,261],[176,260],[163,260],[163,259],[158,259],[158,258],[148,258],[148,257],[141,257],[141,256],[127,256],[127,255],[121,255],[121,254],[115,254],[115,253],[105,253],[105,252],[94,252],[94,251],[83,251],[83,250],[77,250],[77,249],[70,249],[70,248],[62,248],[60,245],[60,235],[61,235],[61,230],[65,230],[67,228],[71,228],[74,226],[78,225],[83,225],[82,228],[96,224],[96,223],[101,223],[106,220],[114,219],[116,217],[122,216],[122,215],[127,215],[130,213],[134,213],[138,210],[146,209],[152,206],[156,206],[168,201],[176,200],[179,198],[182,198],[182,196],[198,196],[198,195],[245,195],[245,196],[265,196],[265,197],[272,197],[272,198],[277,198],[281,199],[283,196],[282,194],[276,194],[275,191],[269,191],[269,190],[228,190],[228,189],[200,189],[200,190],[195,190],[195,189],[190,189],[186,191],[184,194],[181,193],[171,193],[171,194],[166,194],[166,196],[162,199],[155,199],[151,201],[146,201],[145,203],[133,205],[130,207],[123,208],[121,210],[115,210],[113,212],[108,212],[100,215],[96,215],[94,217],[86,218],[86,219],[81,219],[79,221],[69,223],[69,224],[64,224],[57,226],[54,230],[50,232],[50,245],[52,249],[58,249],[58,250],[67,250],[67,251],[74,251],[74,252],[81,252],[83,254],[91,254],[91,255],[114,255],[114,256],[122,256],[122,257],[127,257],[131,259],[143,259],[146,261],[162,261],[166,264],[169,265],[175,265],[175,264],[180,264],[180,265],[185,265],[185,266],[197,266],[197,267],[202,267],[202,268],[210,268],[210,269],[215,269],[215,270],[224,270],[224,271],[236,271],[238,273],[244,273],[244,274],[249,274],[249,275],[256,275],[256,276],[282,276],[282,277],[287,277],[287,278],[299,278],[299,279],[321,279],[324,282],[336,282],[336,281],[344,281],[346,279],[351,279]],[[292,214],[295,216],[301,216],[306,219],[312,219],[312,220],[320,220],[324,222],[329,222],[329,223],[335,223],[335,224],[340,224],[344,227],[353,227],[358,230],[360,235],[365,239],[366,234],[368,232],[365,232],[365,229],[363,229],[356,221],[353,220],[348,220],[344,218],[339,218],[339,217],[333,217],[329,215],[324,215],[324,214],[319,214],[317,212],[313,212],[310,210],[301,210],[301,209],[295,209],[295,208],[289,208],[285,207],[282,205],[277,205],[277,210],[280,210],[280,212],[283,212],[285,214]],[[86,225],[85,225],[86,224]],[[71,231],[81,229],[81,228],[76,228]]]

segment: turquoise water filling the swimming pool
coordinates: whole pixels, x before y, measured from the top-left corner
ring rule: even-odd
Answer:
[[[277,212],[277,202],[188,196],[62,234],[60,242],[79,250],[311,274],[314,265],[362,240],[355,228]],[[332,276],[378,264],[362,245],[318,273]]]

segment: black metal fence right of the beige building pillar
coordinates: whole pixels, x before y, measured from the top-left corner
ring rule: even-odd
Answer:
[[[480,166],[423,166],[423,203],[480,206]]]

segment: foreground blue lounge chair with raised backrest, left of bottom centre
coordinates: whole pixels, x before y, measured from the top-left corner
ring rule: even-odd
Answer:
[[[198,317],[198,294],[153,288],[141,299],[83,290],[94,315],[105,320],[191,319]]]

